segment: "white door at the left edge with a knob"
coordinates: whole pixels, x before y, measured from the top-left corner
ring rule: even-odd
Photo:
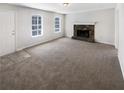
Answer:
[[[15,51],[14,12],[0,12],[0,56]]]

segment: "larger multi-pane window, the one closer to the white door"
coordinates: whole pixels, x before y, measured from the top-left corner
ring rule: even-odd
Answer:
[[[42,17],[32,16],[32,36],[41,36],[42,28]]]

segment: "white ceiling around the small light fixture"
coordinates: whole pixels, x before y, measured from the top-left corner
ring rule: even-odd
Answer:
[[[94,11],[100,9],[115,8],[115,3],[70,3],[68,7],[64,7],[63,3],[18,3],[25,7],[42,9],[62,14]]]

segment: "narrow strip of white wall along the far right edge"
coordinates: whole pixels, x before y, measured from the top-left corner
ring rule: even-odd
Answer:
[[[124,77],[124,4],[118,4],[119,13],[119,47],[118,57]]]

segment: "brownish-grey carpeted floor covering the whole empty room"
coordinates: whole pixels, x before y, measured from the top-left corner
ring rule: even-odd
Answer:
[[[124,89],[113,46],[61,38],[0,58],[0,89]]]

